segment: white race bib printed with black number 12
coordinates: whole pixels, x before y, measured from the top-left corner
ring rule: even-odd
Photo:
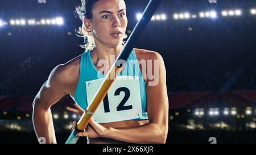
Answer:
[[[88,106],[97,93],[104,79],[86,82]],[[93,114],[97,123],[110,123],[142,117],[139,78],[118,76],[110,87],[108,94]]]

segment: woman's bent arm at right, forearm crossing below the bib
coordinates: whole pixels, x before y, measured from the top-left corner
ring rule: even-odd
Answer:
[[[166,69],[163,58],[158,53],[150,53],[150,60],[159,60],[159,82],[150,86],[148,79],[147,91],[147,112],[149,123],[133,128],[108,128],[106,135],[119,141],[129,143],[166,143],[168,132],[168,97],[166,88]],[[154,63],[153,63],[154,65]],[[153,74],[157,74],[154,70]]]

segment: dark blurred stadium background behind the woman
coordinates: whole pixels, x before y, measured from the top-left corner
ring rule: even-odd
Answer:
[[[127,34],[136,14],[148,1],[127,0]],[[32,126],[32,100],[56,65],[79,56],[83,39],[75,28],[76,1],[1,0],[0,19],[0,143],[38,143]],[[170,104],[167,143],[256,143],[256,1],[163,0],[137,48],[159,52],[167,70]],[[222,10],[241,9],[240,16]],[[200,11],[216,10],[217,18],[199,18]],[[174,19],[191,12],[195,19]],[[62,26],[11,26],[11,19],[64,19]],[[58,143],[69,136],[75,118],[65,111],[66,96],[52,107]],[[224,112],[225,111],[225,112]],[[225,115],[225,114],[227,115]],[[65,115],[65,118],[64,118]],[[86,143],[80,139],[79,143]]]

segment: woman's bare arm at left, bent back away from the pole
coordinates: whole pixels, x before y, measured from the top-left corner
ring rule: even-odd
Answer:
[[[56,143],[51,106],[65,94],[63,66],[52,70],[33,102],[33,123],[37,137],[45,137],[46,143]]]

